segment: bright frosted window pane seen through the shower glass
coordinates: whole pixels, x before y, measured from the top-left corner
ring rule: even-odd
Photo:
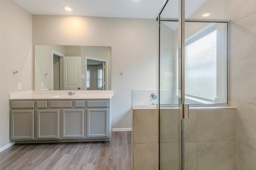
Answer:
[[[187,98],[214,102],[216,98],[216,27],[185,43],[185,92]]]

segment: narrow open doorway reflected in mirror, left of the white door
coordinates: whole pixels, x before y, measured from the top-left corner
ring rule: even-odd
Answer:
[[[64,55],[56,51],[52,52],[52,66],[53,66],[53,90],[63,90],[63,57]]]

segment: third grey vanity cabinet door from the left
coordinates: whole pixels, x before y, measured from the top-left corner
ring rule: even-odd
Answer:
[[[84,109],[63,109],[62,114],[62,137],[84,138]]]

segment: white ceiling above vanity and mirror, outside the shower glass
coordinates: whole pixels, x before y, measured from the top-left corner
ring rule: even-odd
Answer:
[[[164,0],[14,0],[32,15],[155,19]],[[63,6],[70,6],[71,12]]]

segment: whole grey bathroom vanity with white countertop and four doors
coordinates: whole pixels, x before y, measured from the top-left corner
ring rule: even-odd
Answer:
[[[10,140],[16,143],[110,141],[112,90],[10,93]]]

